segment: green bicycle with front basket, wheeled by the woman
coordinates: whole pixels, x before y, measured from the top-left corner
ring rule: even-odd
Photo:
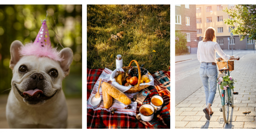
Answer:
[[[224,66],[224,68],[219,69],[219,71],[222,74],[228,74],[229,75],[229,65],[231,61],[234,60],[229,60],[229,61],[221,61],[220,59],[216,58],[218,62],[226,62],[227,63],[227,68]],[[238,59],[239,60],[239,59]],[[217,63],[218,63],[217,62]],[[218,85],[218,90],[220,93],[220,88]],[[238,92],[234,92],[234,89],[230,89],[229,87],[227,87],[226,90],[221,90],[221,94],[220,94],[220,98],[221,98],[221,104],[222,104],[222,108],[220,108],[220,112],[223,112],[223,118],[224,118],[224,122],[228,123],[229,120],[229,107],[231,106],[232,108],[234,107],[234,97],[233,95],[237,95]]]

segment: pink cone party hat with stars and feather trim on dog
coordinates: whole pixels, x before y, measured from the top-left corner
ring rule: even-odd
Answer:
[[[43,20],[34,43],[26,44],[20,49],[19,53],[24,56],[49,57],[56,61],[64,60],[58,55],[57,48],[52,48],[46,20]]]

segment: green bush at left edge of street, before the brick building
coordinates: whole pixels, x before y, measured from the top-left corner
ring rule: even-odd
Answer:
[[[186,46],[187,39],[185,34],[180,32],[175,32],[175,54],[187,53],[188,48]]]

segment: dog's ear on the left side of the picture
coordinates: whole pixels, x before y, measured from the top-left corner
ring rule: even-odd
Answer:
[[[17,64],[17,62],[22,57],[19,54],[19,49],[21,47],[24,47],[24,45],[18,40],[15,40],[15,41],[13,41],[13,43],[11,43],[11,47],[10,47],[11,60],[10,60],[10,66],[9,66],[11,68],[11,70],[13,70],[14,66]]]

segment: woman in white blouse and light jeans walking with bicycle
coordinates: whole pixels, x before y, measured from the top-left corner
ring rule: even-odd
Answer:
[[[216,66],[216,52],[224,60],[239,60],[239,56],[230,57],[221,50],[220,45],[216,43],[215,29],[208,27],[205,30],[203,41],[198,43],[197,48],[197,59],[201,63],[199,74],[204,85],[207,105],[203,111],[207,120],[210,120],[210,115],[213,114],[211,106],[217,90],[218,69]]]

